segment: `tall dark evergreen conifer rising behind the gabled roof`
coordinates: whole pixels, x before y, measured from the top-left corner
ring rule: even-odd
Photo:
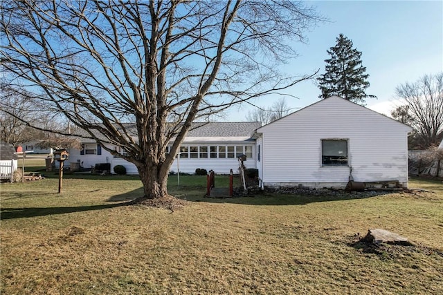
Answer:
[[[366,67],[361,64],[361,52],[352,48],[352,41],[340,34],[336,39],[336,46],[329,48],[327,53],[330,59],[325,59],[325,74],[317,78],[321,90],[321,99],[331,95],[338,95],[344,99],[365,105],[367,95],[365,89],[369,87],[369,75],[365,74]]]

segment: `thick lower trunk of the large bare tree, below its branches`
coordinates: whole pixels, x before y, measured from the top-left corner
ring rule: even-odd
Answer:
[[[161,167],[145,164],[138,166],[138,174],[143,183],[143,199],[158,199],[168,196],[168,174],[160,173]]]

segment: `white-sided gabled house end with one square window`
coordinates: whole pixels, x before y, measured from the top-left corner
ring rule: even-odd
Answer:
[[[341,97],[320,100],[255,132],[266,187],[345,188],[356,182],[408,185],[409,126]]]

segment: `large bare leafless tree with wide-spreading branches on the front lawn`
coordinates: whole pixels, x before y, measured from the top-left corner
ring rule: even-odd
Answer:
[[[310,78],[277,69],[320,20],[305,3],[271,0],[3,0],[1,13],[8,83],[105,149],[123,147],[145,198],[167,195],[192,122]]]

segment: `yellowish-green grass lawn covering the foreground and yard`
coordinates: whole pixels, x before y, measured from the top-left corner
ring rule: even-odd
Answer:
[[[441,180],[209,199],[205,176],[175,175],[188,204],[172,212],[123,206],[142,194],[135,176],[65,175],[61,194],[48,176],[0,185],[1,294],[443,294]],[[374,228],[416,246],[356,244]]]

